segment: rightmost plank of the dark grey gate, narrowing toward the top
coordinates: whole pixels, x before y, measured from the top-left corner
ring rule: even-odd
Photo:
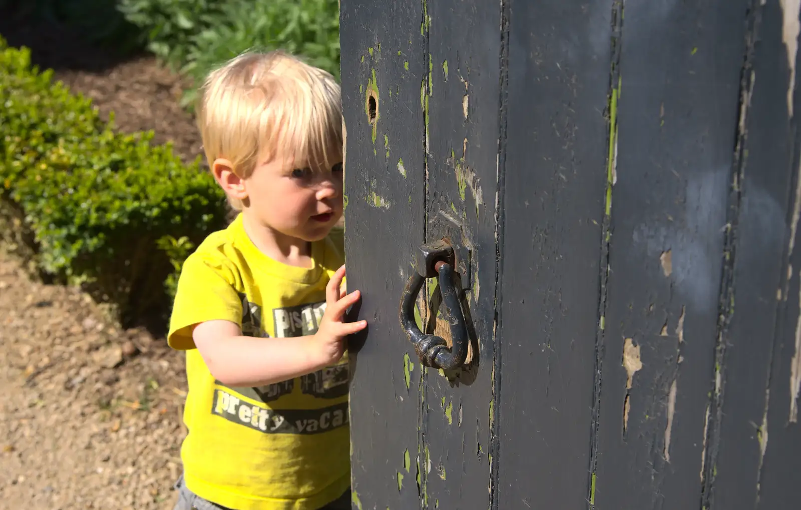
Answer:
[[[713,509],[798,506],[801,474],[798,468],[785,472],[799,466],[801,439],[798,424],[791,421],[789,391],[798,305],[784,313],[787,304],[798,301],[797,295],[783,292],[791,224],[793,230],[797,227],[791,223],[797,215],[790,200],[796,170],[790,110],[797,110],[799,103],[793,104],[796,55],[788,54],[788,42],[794,49],[798,5],[783,12],[793,7],[791,3],[760,2],[750,38],[753,56],[745,80],[743,163],[736,181],[739,195],[733,223],[733,314],[723,336],[719,365],[723,404],[718,452],[710,473]],[[797,294],[797,283],[792,287]]]

